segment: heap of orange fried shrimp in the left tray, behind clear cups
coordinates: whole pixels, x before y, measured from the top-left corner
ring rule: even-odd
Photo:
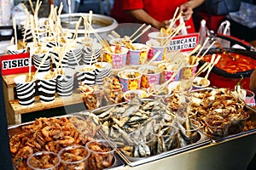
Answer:
[[[38,118],[32,124],[22,126],[20,133],[10,136],[10,152],[15,167],[26,167],[28,156],[38,151],[58,153],[62,148],[74,144],[86,144],[91,137],[84,138],[67,117]]]

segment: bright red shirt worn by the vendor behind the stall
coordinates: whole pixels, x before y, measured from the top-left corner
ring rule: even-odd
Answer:
[[[160,22],[164,20],[170,20],[175,13],[177,7],[186,3],[188,0],[115,0],[115,2],[123,1],[123,9],[139,9],[143,8],[149,15],[155,20]],[[188,32],[195,32],[195,27],[192,17],[185,21],[186,26],[191,26]]]

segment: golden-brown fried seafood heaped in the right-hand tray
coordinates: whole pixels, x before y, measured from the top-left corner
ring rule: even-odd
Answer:
[[[234,97],[228,88],[195,91],[190,102],[189,116],[201,123],[201,129],[212,137],[224,137],[243,131],[249,117],[245,103]],[[165,99],[172,111],[180,107],[180,94]]]

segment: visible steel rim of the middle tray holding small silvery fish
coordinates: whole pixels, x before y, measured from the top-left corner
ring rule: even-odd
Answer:
[[[144,101],[144,100],[154,101],[154,99],[143,99],[142,101]],[[94,116],[97,116],[97,115],[100,115],[104,111],[108,111],[108,109],[110,109],[111,107],[118,106],[118,105],[126,105],[127,103],[128,102],[124,102],[124,103],[117,104],[117,105],[104,106],[104,107],[101,107],[101,108],[90,111],[90,114],[87,113],[86,116],[91,116],[91,114],[93,114]],[[204,133],[201,133],[200,131],[199,131],[199,133],[201,135],[201,139],[198,140],[197,142],[195,142],[194,144],[188,144],[184,147],[180,147],[180,148],[177,148],[177,149],[162,152],[162,153],[160,153],[158,155],[155,155],[155,156],[139,157],[139,158],[131,157],[131,156],[127,156],[120,149],[117,150],[117,155],[126,164],[128,164],[131,167],[135,167],[135,166],[142,165],[142,164],[150,162],[150,161],[157,161],[157,160],[165,158],[167,156],[173,156],[173,155],[176,155],[178,153],[182,153],[182,152],[187,151],[187,150],[192,150],[192,149],[201,147],[201,146],[206,145],[206,144],[211,144],[211,142],[212,142],[211,139],[209,139]],[[109,139],[108,136],[106,136],[102,131],[101,131],[101,134],[102,134],[103,138]]]

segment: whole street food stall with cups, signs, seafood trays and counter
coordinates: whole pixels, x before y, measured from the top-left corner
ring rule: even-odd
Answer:
[[[23,41],[1,57],[16,169],[247,168],[256,153],[256,110],[243,83],[255,52],[213,48],[210,37],[200,45],[198,33],[179,35],[183,23],[157,31],[92,13],[73,17],[60,9],[42,25],[28,17]],[[108,29],[94,28],[99,20]],[[231,58],[241,70],[224,67]],[[242,77],[221,87],[210,79],[214,69]],[[84,111],[20,119],[79,103]]]

